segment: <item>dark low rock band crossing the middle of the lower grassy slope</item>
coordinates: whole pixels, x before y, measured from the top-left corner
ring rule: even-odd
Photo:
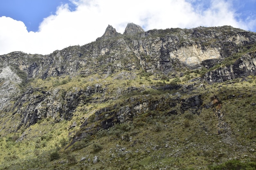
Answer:
[[[102,108],[96,111],[94,114],[94,121],[100,121],[101,124],[88,124],[85,121],[81,126],[81,131],[75,135],[71,144],[79,141],[88,135],[94,135],[99,129],[108,129],[116,124],[132,121],[136,117],[139,117],[143,113],[159,112],[164,110],[170,110],[166,113],[166,116],[177,115],[177,112],[182,114],[185,111],[190,111],[193,114],[200,114],[202,109],[202,99],[200,95],[195,95],[187,99],[179,99],[177,96],[165,96],[158,100],[152,100],[150,95],[141,97],[131,97],[126,101],[128,103],[125,106],[113,106]],[[177,106],[177,110],[173,110]],[[154,113],[152,113],[154,115]],[[106,118],[107,117],[107,118]]]

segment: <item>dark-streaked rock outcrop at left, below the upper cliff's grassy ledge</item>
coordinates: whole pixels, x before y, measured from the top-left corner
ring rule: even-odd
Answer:
[[[39,92],[34,95],[34,92]],[[90,97],[95,93],[103,93],[99,85],[83,89],[74,89],[72,91],[62,91],[60,88],[54,88],[52,91],[43,91],[38,88],[27,88],[27,91],[18,97],[14,103],[14,114],[22,115],[23,119],[18,125],[30,126],[38,120],[46,117],[52,117],[56,121],[70,120],[76,107],[83,102],[90,102]],[[23,104],[29,103],[26,108]]]

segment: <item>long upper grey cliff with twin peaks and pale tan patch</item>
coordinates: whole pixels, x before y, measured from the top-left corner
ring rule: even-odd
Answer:
[[[30,55],[13,52],[1,56],[1,67],[13,64],[27,78],[79,75],[120,69],[144,69],[164,73],[183,68],[198,68],[205,60],[223,59],[248,49],[256,43],[255,33],[230,26],[195,29],[166,29],[144,32],[129,23],[124,35],[112,26],[95,42],[71,46],[50,55]],[[89,69],[90,68],[90,69]]]

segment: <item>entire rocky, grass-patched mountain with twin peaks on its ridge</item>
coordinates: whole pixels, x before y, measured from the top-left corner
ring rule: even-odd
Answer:
[[[0,60],[0,169],[256,167],[254,32],[108,25]]]

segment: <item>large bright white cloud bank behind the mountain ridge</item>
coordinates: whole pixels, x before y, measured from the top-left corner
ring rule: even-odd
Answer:
[[[70,1],[77,6],[75,11],[70,11],[67,4],[58,7],[55,15],[43,20],[36,33],[28,32],[23,22],[0,17],[0,54],[49,54],[70,45],[83,45],[103,35],[108,24],[119,33],[124,32],[128,22],[142,26],[145,31],[222,25],[249,28],[245,22],[236,20],[231,2],[225,0],[211,0],[206,9],[201,8],[201,0]],[[247,23],[255,26],[254,21]]]

